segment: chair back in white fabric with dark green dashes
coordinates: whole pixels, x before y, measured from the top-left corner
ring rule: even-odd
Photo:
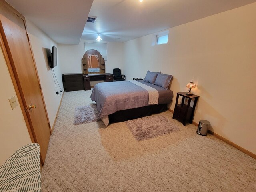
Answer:
[[[19,148],[0,167],[0,192],[40,191],[40,147],[31,143]]]

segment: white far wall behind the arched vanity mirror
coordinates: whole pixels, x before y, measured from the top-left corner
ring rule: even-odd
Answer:
[[[84,42],[96,42],[91,40],[80,40],[78,45],[58,44],[61,72],[82,73],[82,57],[85,54]],[[114,68],[120,68],[124,72],[123,43],[107,43],[108,60],[105,61],[106,73],[113,73]]]

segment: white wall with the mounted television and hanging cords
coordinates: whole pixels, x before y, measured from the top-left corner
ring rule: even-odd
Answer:
[[[54,124],[54,120],[57,115],[58,107],[60,105],[60,100],[62,93],[60,93],[60,88],[56,82],[56,86],[53,78],[53,71],[48,65],[46,48],[51,49],[52,46],[57,46],[56,42],[50,39],[42,30],[40,30],[37,26],[35,26],[29,20],[26,20],[29,32],[30,43],[32,46],[32,50],[34,53],[34,58],[36,62],[36,68],[38,70],[38,76],[40,79],[42,92],[44,95],[44,101],[46,104],[47,113],[50,120],[51,127]],[[60,87],[63,89],[61,72],[60,72],[60,55],[58,49],[58,58],[57,58],[57,66],[53,68],[56,78]],[[57,88],[56,88],[57,87]],[[59,94],[56,95],[56,91],[58,90]]]

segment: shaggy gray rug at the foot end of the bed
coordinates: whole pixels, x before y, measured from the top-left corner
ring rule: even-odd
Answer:
[[[77,106],[75,108],[74,125],[100,121],[96,104]]]

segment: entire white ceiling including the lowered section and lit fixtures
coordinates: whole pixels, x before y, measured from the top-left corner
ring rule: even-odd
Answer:
[[[6,1],[54,41],[64,44],[78,44],[80,38],[95,40],[97,33],[103,41],[126,42],[256,2],[256,0]],[[88,15],[96,16],[96,22],[86,22]]]

